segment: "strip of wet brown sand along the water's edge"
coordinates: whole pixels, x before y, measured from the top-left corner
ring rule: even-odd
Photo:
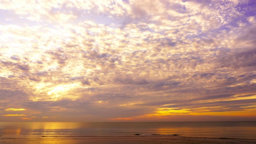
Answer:
[[[72,138],[0,138],[0,144],[256,144],[256,139],[166,136],[110,136]]]

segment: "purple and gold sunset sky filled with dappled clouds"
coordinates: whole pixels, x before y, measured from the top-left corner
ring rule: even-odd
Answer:
[[[256,121],[255,0],[0,0],[0,122]]]

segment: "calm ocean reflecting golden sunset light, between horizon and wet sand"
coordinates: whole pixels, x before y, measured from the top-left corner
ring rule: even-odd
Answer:
[[[256,139],[256,122],[0,122],[0,139],[150,135]]]

